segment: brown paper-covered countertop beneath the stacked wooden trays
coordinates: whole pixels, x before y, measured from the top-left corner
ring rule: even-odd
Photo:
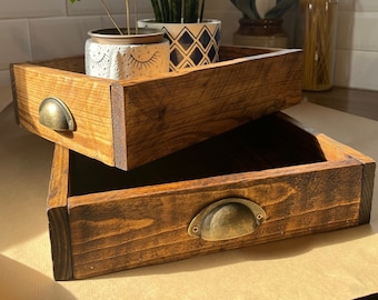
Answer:
[[[285,112],[378,161],[378,122],[307,101]],[[16,124],[12,106],[0,113],[3,299],[345,300],[378,292],[377,178],[370,224],[56,282],[46,214],[52,150]]]

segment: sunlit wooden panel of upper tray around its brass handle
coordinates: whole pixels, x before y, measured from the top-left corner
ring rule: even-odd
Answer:
[[[63,68],[66,60],[58,60]],[[80,70],[78,59],[73,68]],[[47,66],[52,64],[48,63]],[[38,64],[13,64],[13,93],[18,122],[24,129],[50,141],[113,166],[113,136],[109,80]],[[58,132],[39,123],[39,106],[49,97],[59,98],[73,114],[77,129]]]

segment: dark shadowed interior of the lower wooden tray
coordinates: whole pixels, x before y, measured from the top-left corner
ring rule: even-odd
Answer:
[[[70,151],[70,196],[320,161],[316,137],[272,114],[130,171]]]

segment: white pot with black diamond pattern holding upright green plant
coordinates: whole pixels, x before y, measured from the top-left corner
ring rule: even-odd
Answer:
[[[155,19],[140,28],[162,29],[170,41],[170,70],[219,60],[220,21],[203,19],[205,0],[151,0]]]

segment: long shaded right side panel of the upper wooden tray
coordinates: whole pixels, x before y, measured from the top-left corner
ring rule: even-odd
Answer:
[[[115,139],[115,151],[122,156],[116,157],[116,166],[132,169],[299,103],[301,60],[300,51],[282,50],[182,70],[138,84],[115,82],[115,133],[125,134]],[[125,114],[116,111],[122,102]]]

